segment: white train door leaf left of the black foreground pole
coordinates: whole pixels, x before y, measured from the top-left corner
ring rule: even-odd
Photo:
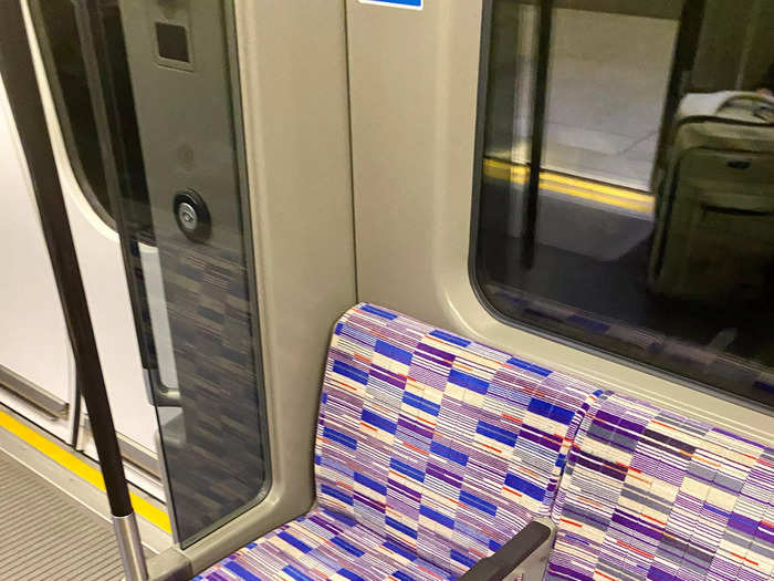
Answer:
[[[0,82],[0,402],[71,444],[77,390],[70,339],[19,135]],[[44,363],[44,364],[43,364]]]

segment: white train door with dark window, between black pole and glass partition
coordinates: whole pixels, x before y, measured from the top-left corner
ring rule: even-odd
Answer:
[[[84,50],[86,6],[34,0],[23,6],[100,359],[111,401],[124,411],[115,422],[127,474],[132,481],[164,498],[154,443],[156,418],[144,396],[144,369],[107,188],[112,168],[101,146],[104,127]],[[85,407],[79,407],[75,445],[96,458]]]

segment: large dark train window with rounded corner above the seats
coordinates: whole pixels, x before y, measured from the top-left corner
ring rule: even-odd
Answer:
[[[774,3],[492,0],[485,14],[484,301],[774,405]]]

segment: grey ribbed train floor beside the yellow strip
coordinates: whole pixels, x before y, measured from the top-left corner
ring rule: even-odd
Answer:
[[[105,492],[7,429],[22,422],[0,405],[0,580],[122,579]],[[22,429],[45,436],[28,423]],[[73,461],[90,461],[55,438],[46,440]],[[138,523],[146,556],[171,546],[166,532],[143,518]]]

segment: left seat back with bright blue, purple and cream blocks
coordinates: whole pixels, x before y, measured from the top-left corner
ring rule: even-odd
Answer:
[[[318,502],[383,535],[385,550],[462,572],[550,515],[599,393],[359,304],[336,324],[326,362]]]

